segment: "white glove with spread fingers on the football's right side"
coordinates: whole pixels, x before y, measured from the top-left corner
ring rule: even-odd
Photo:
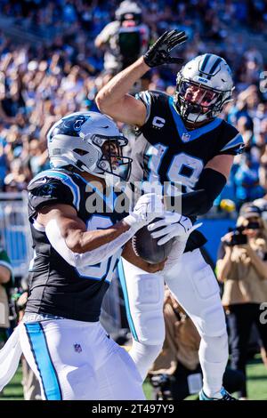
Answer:
[[[160,221],[151,223],[148,226],[153,238],[158,239],[158,245],[164,245],[173,237],[179,237],[180,241],[187,241],[190,233],[197,229],[200,224],[192,226],[192,222],[186,216],[176,212],[166,212]],[[158,230],[155,230],[158,229]]]

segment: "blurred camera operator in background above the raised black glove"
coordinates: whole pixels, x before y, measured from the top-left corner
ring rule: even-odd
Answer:
[[[142,10],[138,4],[125,0],[111,21],[95,38],[97,48],[103,48],[104,69],[115,76],[117,72],[133,64],[149,45],[150,29],[142,23]]]

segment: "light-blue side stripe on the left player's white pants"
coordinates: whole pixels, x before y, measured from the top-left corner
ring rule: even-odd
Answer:
[[[25,327],[36,367],[43,383],[45,399],[61,400],[61,386],[48,350],[44,328],[39,322],[26,323]]]

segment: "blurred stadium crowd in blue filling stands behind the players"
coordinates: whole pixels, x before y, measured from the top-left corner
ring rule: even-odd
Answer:
[[[93,99],[109,75],[103,71],[103,52],[94,38],[114,20],[118,2],[1,1],[2,13],[25,30],[51,33],[43,44],[17,44],[0,35],[0,187],[26,189],[28,180],[47,166],[45,132],[58,117],[80,109],[95,109]],[[225,197],[238,207],[263,197],[267,190],[267,94],[260,88],[263,55],[247,48],[231,28],[264,28],[264,2],[208,1],[150,2],[142,20],[155,40],[166,28],[185,29],[190,42],[185,61],[212,48],[225,58],[235,76],[234,100],[223,117],[242,133],[247,152],[238,157]],[[231,25],[230,25],[231,23]],[[35,32],[36,33],[36,32]],[[174,92],[178,67],[150,71],[149,89]],[[262,90],[262,91],[261,91]]]

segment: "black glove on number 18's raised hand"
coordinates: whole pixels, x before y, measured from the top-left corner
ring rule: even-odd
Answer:
[[[162,64],[177,64],[181,63],[182,58],[171,57],[170,52],[175,46],[183,44],[187,40],[187,36],[184,32],[178,32],[177,30],[166,30],[166,32],[158,38],[148,52],[143,56],[145,63],[149,67],[158,67]]]

